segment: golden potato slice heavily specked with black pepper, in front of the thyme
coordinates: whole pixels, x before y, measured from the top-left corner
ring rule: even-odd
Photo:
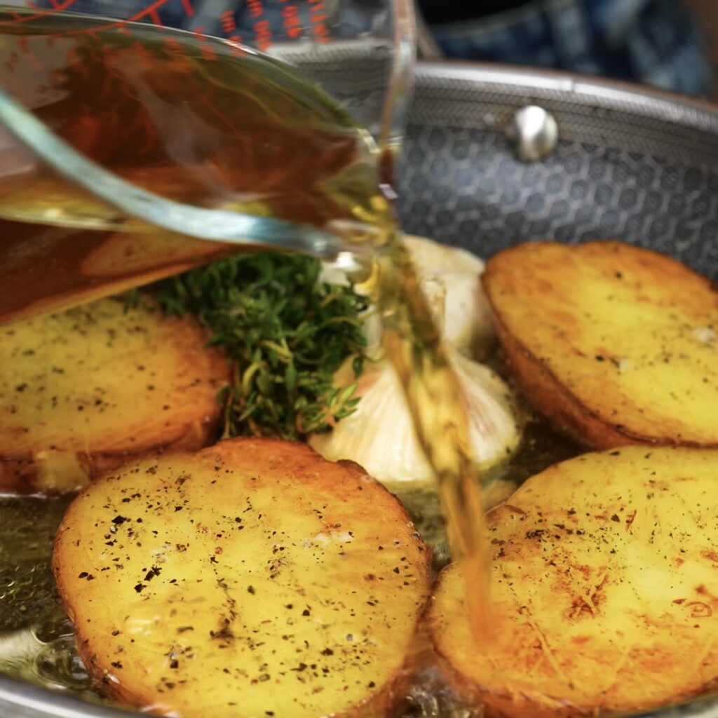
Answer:
[[[54,571],[86,665],[121,699],[183,718],[317,718],[386,699],[428,554],[358,465],[230,439],[90,485]]]

